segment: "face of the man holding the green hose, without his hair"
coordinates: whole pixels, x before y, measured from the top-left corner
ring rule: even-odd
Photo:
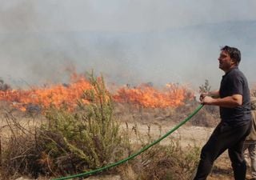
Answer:
[[[218,62],[218,67],[225,72],[228,72],[232,67],[235,66],[234,60],[230,58],[230,54],[228,54],[225,50],[222,50],[221,54],[219,54]]]

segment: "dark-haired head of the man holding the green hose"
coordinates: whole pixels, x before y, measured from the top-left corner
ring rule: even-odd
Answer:
[[[221,54],[218,58],[219,68],[228,72],[230,69],[238,66],[241,61],[240,50],[235,47],[223,46],[221,48]]]

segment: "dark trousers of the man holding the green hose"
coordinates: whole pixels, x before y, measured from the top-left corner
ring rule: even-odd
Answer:
[[[229,126],[220,122],[211,134],[206,145],[202,147],[198,171],[194,180],[206,180],[214,160],[225,150],[228,150],[235,180],[245,180],[246,161],[243,158],[243,144],[250,134],[251,122],[243,126]]]

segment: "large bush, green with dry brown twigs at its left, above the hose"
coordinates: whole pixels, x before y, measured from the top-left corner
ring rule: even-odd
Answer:
[[[90,83],[92,89],[82,97],[89,103],[78,102],[76,112],[70,113],[65,106],[61,109],[53,106],[46,111],[48,122],[36,128],[35,133],[12,130],[2,167],[10,174],[66,175],[102,167],[121,158],[128,146],[122,141],[113,117],[112,98],[103,78],[90,75]]]

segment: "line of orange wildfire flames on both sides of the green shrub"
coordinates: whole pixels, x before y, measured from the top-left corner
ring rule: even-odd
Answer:
[[[0,90],[0,101],[11,102],[15,108],[26,110],[29,105],[48,108],[51,105],[60,107],[65,104],[69,110],[74,110],[78,100],[90,103],[82,98],[85,90],[90,90],[90,82],[82,75],[73,74],[68,85],[55,85],[46,88],[33,88],[32,90]],[[118,88],[113,94],[116,102],[129,102],[136,105],[165,108],[180,106],[192,94],[185,86],[167,84],[164,90],[154,89],[153,86],[141,85],[130,88]]]

